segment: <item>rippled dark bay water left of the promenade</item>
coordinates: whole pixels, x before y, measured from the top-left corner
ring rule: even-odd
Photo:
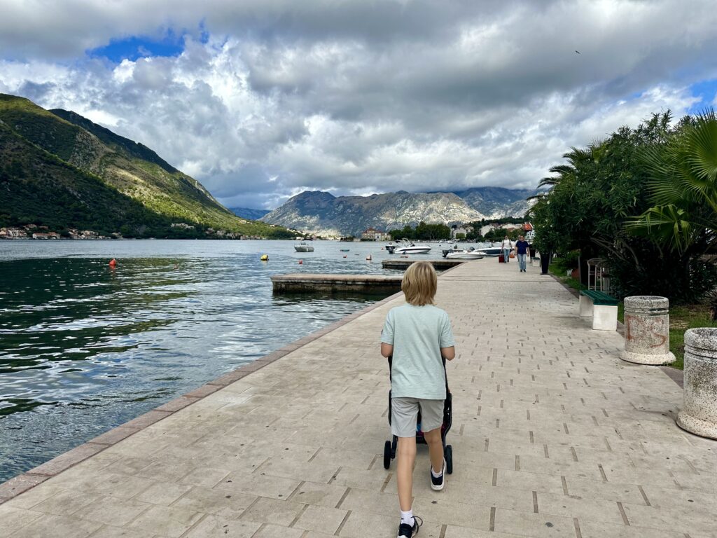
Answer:
[[[272,274],[399,274],[381,244],[293,244],[0,241],[0,482],[381,298],[275,297]]]

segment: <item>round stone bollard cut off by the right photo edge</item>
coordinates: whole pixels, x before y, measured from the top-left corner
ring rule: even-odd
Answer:
[[[685,332],[685,405],[677,425],[717,439],[717,329]]]

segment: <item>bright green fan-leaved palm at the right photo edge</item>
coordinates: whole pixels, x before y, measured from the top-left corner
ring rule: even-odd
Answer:
[[[714,110],[685,124],[666,144],[645,149],[643,161],[655,204],[626,225],[627,230],[684,254],[717,240],[717,117]]]

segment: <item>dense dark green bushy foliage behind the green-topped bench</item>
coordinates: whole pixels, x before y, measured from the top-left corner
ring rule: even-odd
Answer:
[[[675,250],[664,235],[636,236],[625,227],[635,215],[654,212],[651,208],[660,189],[655,189],[655,166],[647,162],[656,156],[664,161],[665,151],[670,154],[673,146],[683,147],[680,141],[692,126],[691,118],[671,126],[669,112],[655,114],[635,129],[622,127],[604,141],[571,148],[564,155],[567,162],[551,168],[553,175],[541,181],[540,187],[550,190],[538,195],[529,212],[538,250],[563,254],[578,250],[584,281],[585,261],[603,258],[619,296],[656,294],[678,302],[702,296],[717,283],[714,266],[700,260],[702,252]],[[670,155],[673,169],[690,162],[684,151]],[[684,190],[680,186],[670,192],[682,193],[682,199]],[[688,212],[687,207],[674,206],[663,216],[680,222],[687,220]],[[703,223],[701,230],[704,235]]]

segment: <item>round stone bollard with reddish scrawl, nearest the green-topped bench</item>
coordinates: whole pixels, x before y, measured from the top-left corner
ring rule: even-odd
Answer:
[[[620,359],[637,364],[673,362],[669,312],[670,301],[666,297],[625,297],[625,351]]]

